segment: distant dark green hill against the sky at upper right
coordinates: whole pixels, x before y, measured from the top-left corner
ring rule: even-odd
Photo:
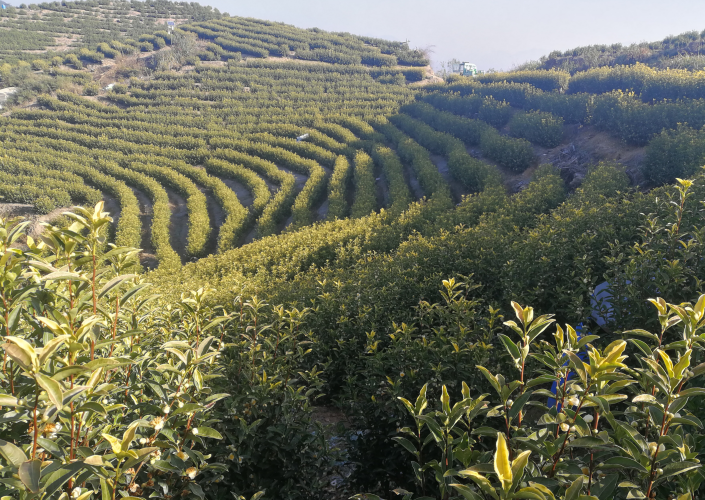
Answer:
[[[705,30],[670,35],[656,42],[587,45],[565,52],[556,50],[516,69],[561,69],[575,73],[602,66],[636,63],[653,68],[701,70],[705,67]]]

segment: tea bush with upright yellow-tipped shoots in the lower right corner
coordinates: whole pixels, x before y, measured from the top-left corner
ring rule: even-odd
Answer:
[[[395,440],[414,456],[421,496],[403,489],[398,494],[444,500],[701,498],[697,457],[705,435],[695,412],[705,396],[696,380],[705,373],[705,363],[697,364],[705,295],[695,305],[649,301],[660,329],[626,331],[628,341],[607,345],[569,325],[556,325],[552,341],[543,340],[552,315],[534,317],[533,308],[513,302],[518,321],[504,323],[513,338],[499,338],[517,378],[477,366],[494,398],[471,396],[465,383],[453,406],[445,385],[438,409],[429,409],[428,385],[415,403],[399,398],[414,425],[399,429]],[[542,387],[553,382],[555,392]]]

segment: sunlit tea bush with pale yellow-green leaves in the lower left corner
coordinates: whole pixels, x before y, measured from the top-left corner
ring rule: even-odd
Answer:
[[[102,209],[78,208],[41,241],[0,220],[3,494],[203,498],[222,469],[207,451],[227,396],[209,382],[218,321],[202,323],[191,299],[154,314],[149,285],[126,274],[137,250],[102,251]]]

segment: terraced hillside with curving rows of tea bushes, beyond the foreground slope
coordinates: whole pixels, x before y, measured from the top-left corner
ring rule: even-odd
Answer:
[[[705,116],[697,73],[525,71],[417,90],[425,70],[400,64],[425,61],[403,45],[213,15],[141,37],[144,56],[101,42],[91,71],[47,70],[55,92],[0,122],[6,202],[47,213],[102,197],[118,210],[115,242],[174,270],[317,222],[521,185],[571,124],[643,147]],[[664,97],[686,100],[648,102]],[[648,180],[676,175],[655,162],[677,140],[649,150]]]

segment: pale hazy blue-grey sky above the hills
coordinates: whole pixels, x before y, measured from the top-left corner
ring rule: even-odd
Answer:
[[[552,50],[629,44],[705,29],[705,0],[201,0],[233,16],[433,46],[434,67],[456,58],[510,69]]]

